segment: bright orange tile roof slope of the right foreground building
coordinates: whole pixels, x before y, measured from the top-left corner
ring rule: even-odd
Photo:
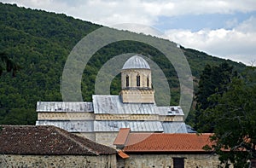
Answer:
[[[206,152],[211,134],[130,133],[123,152]]]

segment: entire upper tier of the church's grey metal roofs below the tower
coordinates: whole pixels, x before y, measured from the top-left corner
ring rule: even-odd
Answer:
[[[181,107],[157,107],[153,103],[123,103],[120,96],[94,95],[92,98],[93,102],[38,101],[37,112],[184,115]]]

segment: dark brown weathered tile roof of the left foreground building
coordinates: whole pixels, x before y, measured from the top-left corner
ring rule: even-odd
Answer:
[[[115,149],[55,126],[3,125],[0,154],[116,154]]]

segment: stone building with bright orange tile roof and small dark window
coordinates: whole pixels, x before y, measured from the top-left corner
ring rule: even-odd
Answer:
[[[129,128],[120,129],[113,142],[119,150],[117,167],[218,167],[218,155],[203,149],[206,145],[212,145],[210,136],[195,133],[134,133]]]

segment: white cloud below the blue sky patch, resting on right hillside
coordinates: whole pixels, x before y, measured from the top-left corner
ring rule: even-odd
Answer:
[[[251,17],[232,30],[168,30],[170,40],[233,61],[249,64],[256,60],[256,18]]]

